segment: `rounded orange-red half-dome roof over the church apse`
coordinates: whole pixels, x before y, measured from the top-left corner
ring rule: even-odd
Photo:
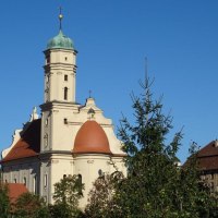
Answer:
[[[86,121],[81,126],[75,137],[73,153],[111,154],[108,137],[96,121]]]

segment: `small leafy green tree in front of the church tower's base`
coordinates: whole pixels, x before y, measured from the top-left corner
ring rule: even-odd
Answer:
[[[55,184],[55,205],[50,205],[51,217],[80,217],[78,199],[83,196],[84,184],[78,175],[69,175]]]

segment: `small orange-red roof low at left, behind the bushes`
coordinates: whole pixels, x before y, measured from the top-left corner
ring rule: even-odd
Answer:
[[[15,203],[20,195],[28,192],[27,187],[21,183],[7,183],[9,187],[9,198],[11,203]]]

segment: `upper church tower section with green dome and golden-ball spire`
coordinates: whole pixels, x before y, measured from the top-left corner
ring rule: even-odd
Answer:
[[[76,53],[73,41],[62,32],[48,41],[45,53],[45,102],[75,102]]]

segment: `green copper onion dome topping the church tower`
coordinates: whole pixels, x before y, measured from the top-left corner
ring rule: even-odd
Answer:
[[[48,41],[47,49],[52,48],[74,49],[72,39],[63,35],[62,31]]]

